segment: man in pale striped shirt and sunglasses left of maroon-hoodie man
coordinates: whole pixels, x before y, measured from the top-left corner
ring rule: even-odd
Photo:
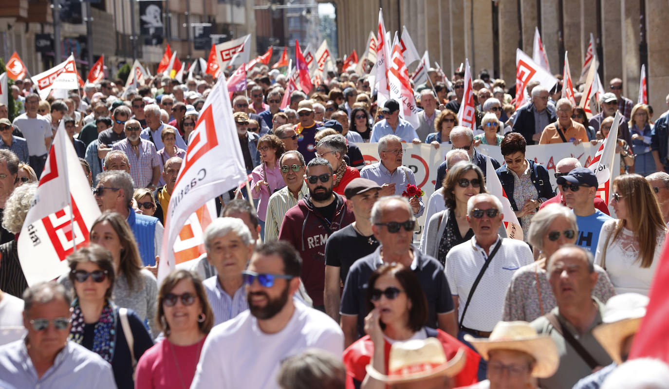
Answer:
[[[284,152],[279,158],[279,166],[286,186],[274,192],[268,201],[265,220],[266,242],[278,239],[279,229],[288,210],[295,207],[298,201],[309,193],[304,180],[306,164],[300,152],[297,150]]]

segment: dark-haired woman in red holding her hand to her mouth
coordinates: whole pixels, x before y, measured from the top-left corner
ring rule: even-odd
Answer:
[[[384,389],[385,384],[367,376],[371,364],[387,374],[390,348],[395,342],[437,338],[446,358],[454,358],[460,348],[466,352],[466,365],[455,376],[454,386],[475,383],[480,356],[442,330],[423,326],[427,321],[427,299],[413,271],[403,265],[381,265],[369,277],[367,287],[369,315],[365,317],[364,336],[344,351],[347,389]]]

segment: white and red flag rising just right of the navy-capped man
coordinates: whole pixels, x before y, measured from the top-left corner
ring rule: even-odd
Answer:
[[[609,195],[611,194],[611,185],[613,184],[613,168],[617,168],[613,166],[613,160],[618,140],[618,126],[621,120],[620,111],[615,112],[609,134],[607,134],[606,139],[597,149],[595,157],[592,158],[592,161],[587,166],[595,172],[597,182],[599,183],[595,196],[602,199],[607,205],[609,204]]]

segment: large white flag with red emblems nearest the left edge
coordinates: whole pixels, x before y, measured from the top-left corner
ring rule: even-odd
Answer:
[[[28,285],[67,273],[66,257],[88,245],[100,209],[61,120],[17,248]]]

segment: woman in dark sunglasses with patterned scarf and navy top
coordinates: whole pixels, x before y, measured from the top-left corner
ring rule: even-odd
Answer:
[[[68,261],[74,286],[70,340],[109,362],[118,388],[132,388],[134,364],[153,340],[132,309],[121,310],[112,302],[112,255],[104,247],[90,245],[72,253]]]

